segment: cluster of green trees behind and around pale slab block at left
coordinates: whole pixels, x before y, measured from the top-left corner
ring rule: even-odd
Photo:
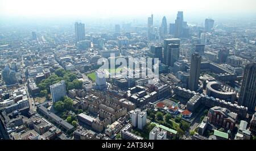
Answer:
[[[50,93],[49,86],[60,82],[61,80],[65,81],[66,90],[71,89],[82,89],[82,81],[79,81],[76,77],[76,74],[66,71],[64,69],[57,69],[55,74],[49,76],[47,79],[43,79],[38,83],[40,89],[40,96],[46,96],[46,93]]]

